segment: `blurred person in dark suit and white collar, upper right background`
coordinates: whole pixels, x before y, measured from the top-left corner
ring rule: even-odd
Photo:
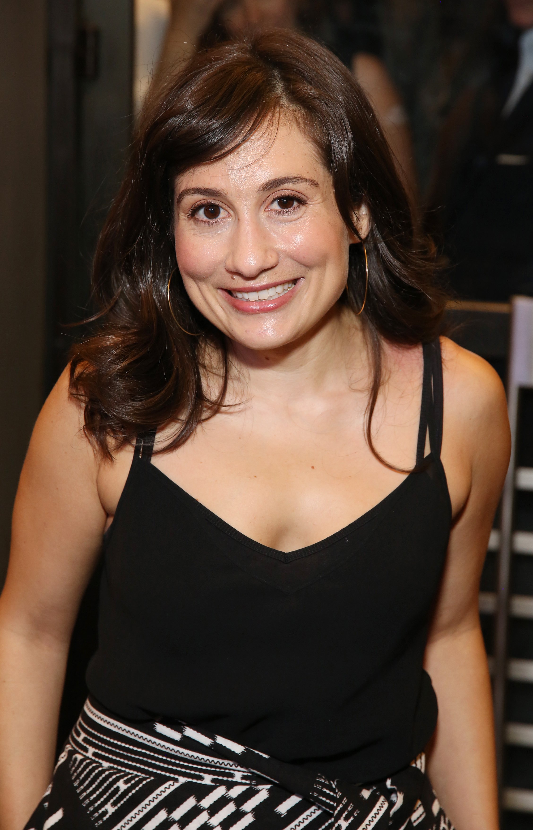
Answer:
[[[467,300],[533,295],[533,0],[505,7],[486,81],[444,126],[428,199],[428,229]]]

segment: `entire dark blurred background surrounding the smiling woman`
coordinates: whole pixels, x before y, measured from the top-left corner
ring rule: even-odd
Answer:
[[[0,0],[0,584],[37,413],[90,312],[149,85],[247,25],[298,27],[367,91],[446,264],[447,323],[507,386],[514,455],[480,609],[505,828],[533,828],[533,0]],[[521,300],[513,300],[513,297]],[[97,574],[61,715],[85,696]]]

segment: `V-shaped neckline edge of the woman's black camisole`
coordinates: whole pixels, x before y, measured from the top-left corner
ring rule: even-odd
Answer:
[[[408,485],[408,482],[413,481],[413,476],[427,470],[429,462],[433,460],[433,452],[429,452],[428,455],[424,457],[422,465],[410,471],[408,475],[405,476],[403,481],[400,481],[399,484],[394,487],[394,490],[390,491],[387,496],[384,496],[384,498],[381,499],[376,505],[370,507],[369,510],[366,510],[362,515],[358,516],[357,519],[351,521],[350,524],[345,525],[345,527],[340,528],[340,530],[336,530],[335,533],[330,536],[326,536],[325,539],[314,542],[304,548],[289,551],[278,550],[276,548],[271,548],[266,544],[262,544],[261,542],[257,542],[255,539],[252,539],[250,536],[247,536],[240,530],[237,530],[237,528],[229,525],[227,521],[223,520],[216,513],[213,513],[213,510],[209,510],[209,508],[203,505],[201,501],[198,501],[198,499],[195,499],[194,496],[191,496],[188,491],[183,490],[182,486],[178,485],[174,479],[167,476],[167,474],[162,470],[159,470],[159,467],[152,464],[151,461],[144,463],[141,461],[135,466],[137,466],[139,470],[147,466],[154,470],[155,475],[159,478],[159,481],[167,486],[169,490],[173,491],[174,495],[181,497],[187,503],[190,510],[198,511],[212,525],[218,527],[219,530],[222,530],[222,532],[228,536],[231,536],[233,540],[240,542],[240,544],[246,545],[248,548],[257,551],[257,553],[270,556],[271,559],[278,559],[281,562],[289,563],[295,559],[301,559],[303,556],[318,553],[320,550],[329,547],[331,544],[335,544],[335,542],[343,537],[354,533],[354,531],[358,530],[359,527],[366,525],[370,520],[374,519],[374,516],[383,510],[384,507],[388,506],[390,502],[401,496],[403,490]],[[113,524],[114,522],[111,523],[108,530],[110,530]]]

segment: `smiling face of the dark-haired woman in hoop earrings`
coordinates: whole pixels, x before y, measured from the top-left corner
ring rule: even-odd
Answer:
[[[230,339],[276,349],[301,338],[345,288],[350,243],[332,180],[289,120],[175,185],[175,243],[193,304]],[[359,232],[368,232],[366,213]]]

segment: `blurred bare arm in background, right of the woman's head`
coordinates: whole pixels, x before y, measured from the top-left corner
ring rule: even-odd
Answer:
[[[396,159],[399,174],[413,203],[416,203],[418,185],[413,142],[399,91],[391,81],[383,61],[374,55],[359,52],[352,61],[352,71],[374,107]]]

